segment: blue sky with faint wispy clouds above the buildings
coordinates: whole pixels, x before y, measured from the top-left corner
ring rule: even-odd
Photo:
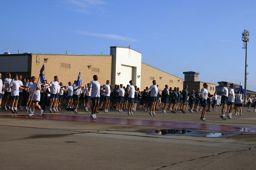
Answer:
[[[184,79],[256,91],[255,0],[1,0],[0,54],[110,54],[130,45],[142,62]],[[86,61],[84,61],[86,62]]]

